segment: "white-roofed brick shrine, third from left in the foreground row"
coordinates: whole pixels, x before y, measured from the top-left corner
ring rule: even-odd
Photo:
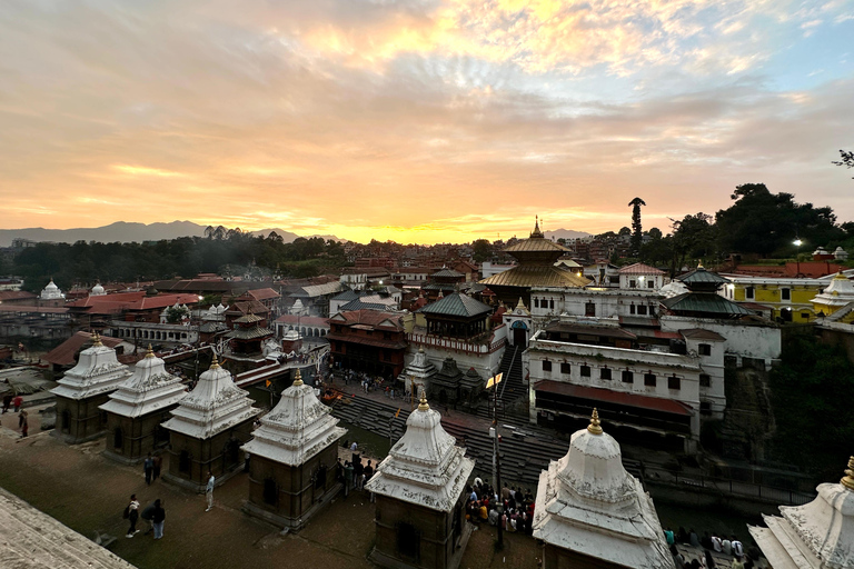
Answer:
[[[226,481],[244,463],[240,445],[250,439],[252,420],[260,412],[215,353],[210,369],[163,423],[170,431],[169,472],[163,479],[197,491],[205,489],[208,470],[217,483]]]

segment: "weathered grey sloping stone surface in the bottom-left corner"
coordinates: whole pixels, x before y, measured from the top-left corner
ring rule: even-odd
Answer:
[[[101,546],[0,488],[0,566],[133,569]]]

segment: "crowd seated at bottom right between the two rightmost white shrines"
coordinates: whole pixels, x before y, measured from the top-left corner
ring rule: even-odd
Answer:
[[[713,569],[718,567],[716,559],[721,558],[729,561],[728,567],[731,569],[751,569],[759,558],[758,549],[745,550],[744,543],[735,536],[718,537],[705,531],[701,537],[694,531],[694,528],[688,531],[685,531],[685,528],[679,528],[675,533],[671,528],[667,528],[664,530],[664,538],[671,548],[676,569]],[[677,543],[699,548],[702,553],[693,558],[685,556],[676,547]]]

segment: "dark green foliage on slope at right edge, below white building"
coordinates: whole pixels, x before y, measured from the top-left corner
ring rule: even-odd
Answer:
[[[837,478],[854,437],[852,391],[854,365],[842,348],[814,336],[786,340],[782,361],[771,371],[776,457],[822,480]]]

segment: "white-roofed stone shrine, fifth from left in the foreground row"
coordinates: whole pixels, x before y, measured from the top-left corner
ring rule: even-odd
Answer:
[[[421,393],[406,432],[365,486],[377,499],[377,539],[369,559],[384,567],[456,569],[470,526],[466,481],[475,461],[441,428]]]

